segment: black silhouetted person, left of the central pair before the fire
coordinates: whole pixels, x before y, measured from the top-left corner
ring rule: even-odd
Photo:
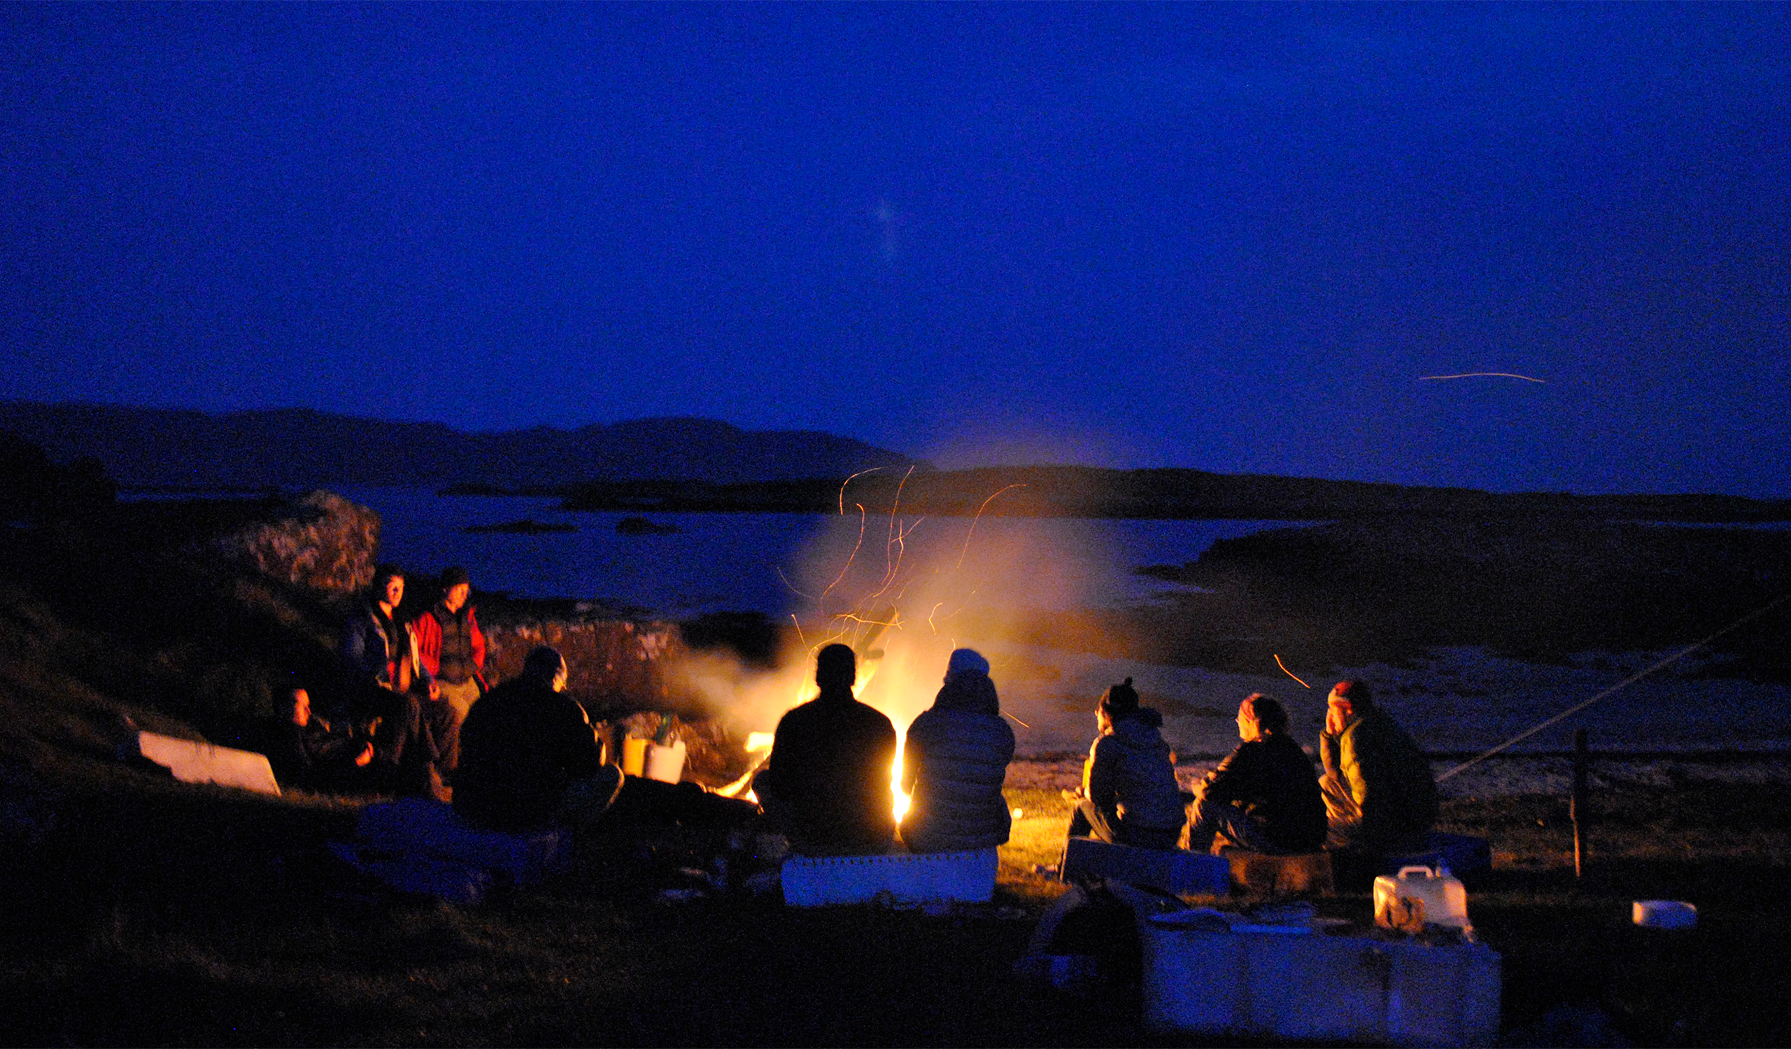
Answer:
[[[767,820],[804,856],[869,856],[896,843],[896,725],[853,698],[856,677],[849,646],[822,648],[820,695],[784,712],[752,779]]]

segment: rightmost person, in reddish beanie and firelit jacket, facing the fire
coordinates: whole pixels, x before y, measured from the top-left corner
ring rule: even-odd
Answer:
[[[1431,763],[1367,684],[1341,680],[1331,689],[1318,755],[1327,847],[1386,854],[1424,845],[1438,814]]]

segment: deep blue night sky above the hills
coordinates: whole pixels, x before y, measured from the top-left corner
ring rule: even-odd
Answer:
[[[491,7],[5,5],[0,397],[1791,496],[1782,4]]]

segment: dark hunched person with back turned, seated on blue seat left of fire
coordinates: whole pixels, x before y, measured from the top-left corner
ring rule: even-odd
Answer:
[[[536,648],[523,673],[473,704],[460,729],[453,807],[466,822],[521,832],[587,825],[621,791],[621,770],[578,700],[566,695],[566,659]]]

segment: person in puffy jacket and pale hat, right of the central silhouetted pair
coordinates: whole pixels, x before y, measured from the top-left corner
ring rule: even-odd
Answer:
[[[989,661],[971,648],[951,653],[946,686],[908,725],[903,789],[912,795],[901,838],[913,852],[992,849],[1012,820],[1001,782],[1014,761],[1014,729],[1001,720]]]

